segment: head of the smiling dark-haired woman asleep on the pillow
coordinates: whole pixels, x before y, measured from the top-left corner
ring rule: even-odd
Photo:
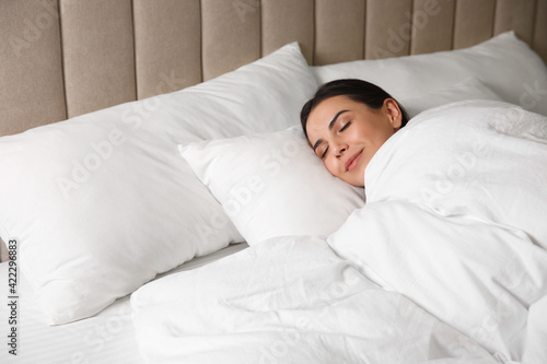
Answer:
[[[328,82],[302,108],[302,128],[328,172],[364,186],[372,156],[408,121],[405,109],[384,90],[362,80]]]

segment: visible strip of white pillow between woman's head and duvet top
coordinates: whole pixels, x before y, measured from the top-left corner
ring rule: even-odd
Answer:
[[[468,78],[451,87],[430,91],[415,97],[403,98],[400,103],[412,118],[427,109],[467,99],[503,101],[478,79]]]

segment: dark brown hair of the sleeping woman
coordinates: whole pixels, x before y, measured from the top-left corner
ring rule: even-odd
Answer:
[[[321,102],[334,97],[334,96],[347,96],[354,102],[362,103],[372,109],[380,109],[384,105],[386,98],[393,98],[382,87],[358,79],[342,79],[335,80],[323,84],[312,99],[304,104],[302,111],[300,113],[300,122],[302,122],[302,129],[304,129],[304,134],[307,138],[306,124],[310,113]],[[400,121],[400,127],[403,128],[409,120],[408,114],[405,108],[397,102],[403,119]]]

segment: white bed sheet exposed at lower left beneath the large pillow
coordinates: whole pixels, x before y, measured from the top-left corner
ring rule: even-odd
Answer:
[[[195,258],[158,278],[202,267],[246,247],[246,244],[231,245],[211,255]],[[129,296],[116,301],[91,318],[61,326],[48,326],[39,309],[36,295],[21,272],[19,272],[18,282],[20,292],[18,356],[9,354],[7,262],[0,265],[0,282],[2,282],[0,292],[3,298],[0,304],[0,336],[2,337],[0,363],[143,363],[135,339]]]

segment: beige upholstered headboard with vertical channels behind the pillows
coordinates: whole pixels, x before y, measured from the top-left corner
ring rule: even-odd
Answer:
[[[516,35],[547,0],[0,0],[0,136],[183,89],[298,40],[310,64]]]

